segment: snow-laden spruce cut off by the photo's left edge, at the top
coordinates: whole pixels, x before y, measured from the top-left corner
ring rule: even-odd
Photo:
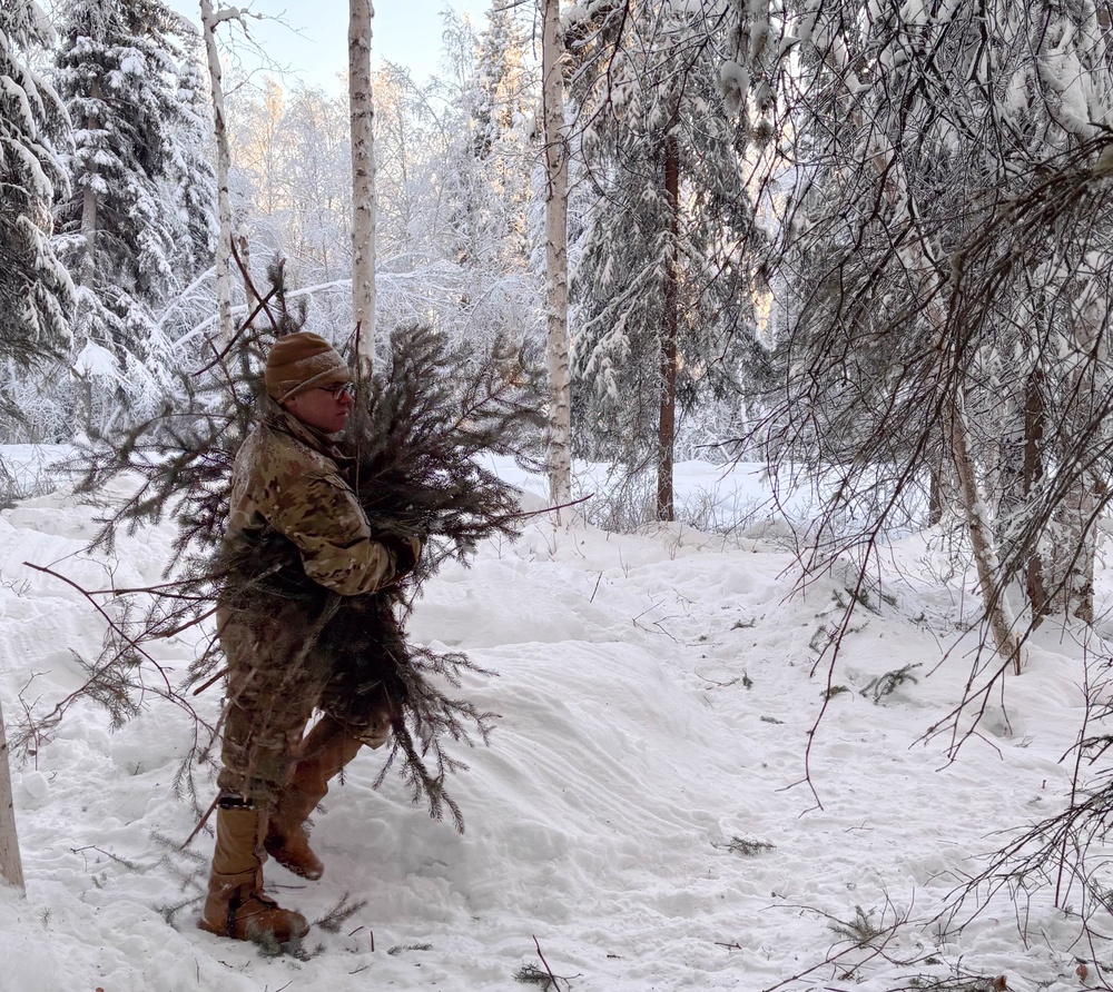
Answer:
[[[28,58],[52,40],[33,0],[0,8],[0,354],[14,369],[65,353],[73,306],[69,272],[50,244],[50,209],[67,189],[57,148],[66,113]],[[0,404],[9,415],[4,393]]]

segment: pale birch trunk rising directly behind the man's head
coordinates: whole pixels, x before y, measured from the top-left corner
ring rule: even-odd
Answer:
[[[352,118],[352,320],[359,374],[375,354],[375,103],[371,90],[371,0],[349,0],[348,99]]]

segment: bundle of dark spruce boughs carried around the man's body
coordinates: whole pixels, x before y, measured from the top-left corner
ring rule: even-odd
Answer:
[[[287,311],[280,287],[268,298],[272,313],[283,315],[279,331],[296,329],[304,315]],[[437,819],[447,811],[462,829],[445,777],[463,765],[445,745],[485,740],[489,723],[451,687],[459,687],[465,671],[479,669],[462,654],[437,654],[408,643],[404,621],[422,585],[445,561],[469,561],[487,537],[515,536],[521,518],[515,490],[484,466],[483,456],[530,458],[539,447],[539,376],[513,348],[453,349],[443,335],[417,324],[394,331],[387,360],[380,363],[372,381],[361,384],[347,442],[356,459],[356,492],[373,529],[421,534],[425,547],[403,583],[344,597],[306,579],[293,545],[277,534],[266,538],[266,553],[250,561],[227,556],[219,544],[232,464],[254,419],[267,344],[243,333],[218,366],[189,384],[188,394],[183,393],[187,399],[168,405],[125,445],[98,452],[83,489],[98,490],[120,473],[138,473],[144,479],[102,539],[110,544],[121,526],[171,517],[178,555],[169,566],[170,583],[120,599],[138,603],[150,596],[151,605],[137,608],[132,622],[112,632],[104,655],[89,664],[90,684],[122,687],[100,697],[126,718],[131,711],[121,707],[121,700],[132,698],[144,683],[150,691],[157,682],[144,644],[199,623],[218,597],[267,615],[289,602],[312,604],[322,618],[318,643],[345,659],[352,693],[383,685],[395,706],[393,750],[381,778],[397,765],[415,802],[426,801]],[[197,661],[188,685],[211,682],[220,667],[214,643]],[[186,688],[176,687],[170,695],[188,710]],[[198,740],[204,752],[203,731]]]

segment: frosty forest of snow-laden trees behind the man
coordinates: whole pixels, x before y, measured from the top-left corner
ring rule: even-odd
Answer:
[[[594,523],[673,519],[697,453],[806,479],[801,582],[850,576],[831,665],[877,555],[934,528],[981,603],[956,725],[1048,617],[1096,637],[1109,3],[496,3],[347,100],[237,78],[244,12],[201,16],[0,10],[0,440],[121,447],[280,277],[368,364],[413,319],[546,364],[553,496],[569,454],[614,466]]]

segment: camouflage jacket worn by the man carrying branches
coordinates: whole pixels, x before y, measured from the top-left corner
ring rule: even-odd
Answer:
[[[371,535],[326,435],[264,398],[264,417],[236,455],[225,540],[257,544],[270,528],[297,548],[305,574],[343,596],[395,576],[395,552]]]

